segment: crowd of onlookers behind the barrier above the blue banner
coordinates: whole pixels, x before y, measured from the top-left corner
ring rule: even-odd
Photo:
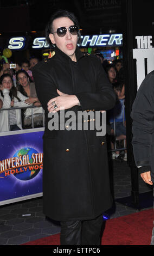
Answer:
[[[0,71],[0,131],[16,131],[43,126],[43,109],[36,95],[31,69],[37,58],[24,60],[16,68],[4,63]],[[33,107],[33,108],[32,108]]]

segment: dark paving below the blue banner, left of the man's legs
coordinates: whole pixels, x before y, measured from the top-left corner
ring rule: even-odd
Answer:
[[[0,208],[0,245],[20,245],[60,232],[59,223],[42,213],[42,198]]]

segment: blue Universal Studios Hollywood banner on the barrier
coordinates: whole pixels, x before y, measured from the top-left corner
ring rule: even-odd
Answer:
[[[41,131],[0,137],[0,201],[42,192],[42,168],[38,169],[38,165],[31,164],[37,169],[31,171],[29,165],[25,165],[5,170],[3,160],[6,163],[12,157],[28,155],[29,162],[33,163],[31,154],[43,153],[43,133]]]

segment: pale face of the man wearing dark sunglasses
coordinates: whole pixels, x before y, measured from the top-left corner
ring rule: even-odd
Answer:
[[[53,21],[53,32],[57,31],[57,28],[66,27],[69,28],[73,26],[74,22],[70,20],[68,17],[60,17]],[[76,61],[75,50],[78,42],[78,35],[72,35],[67,29],[67,33],[65,36],[60,37],[57,33],[49,34],[49,38],[53,44],[64,52],[67,56],[69,56],[73,61]]]

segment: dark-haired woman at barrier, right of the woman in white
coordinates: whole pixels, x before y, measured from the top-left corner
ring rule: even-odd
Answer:
[[[25,102],[27,104],[33,104],[37,108],[33,108],[33,120],[34,126],[43,126],[43,109],[41,107],[41,103],[37,98],[35,83],[31,82],[28,73],[25,70],[19,70],[16,73],[16,81],[17,81],[17,90],[19,90],[24,96],[28,97]],[[32,109],[27,109],[27,113],[24,118],[24,126],[31,127],[32,118],[31,118]]]

